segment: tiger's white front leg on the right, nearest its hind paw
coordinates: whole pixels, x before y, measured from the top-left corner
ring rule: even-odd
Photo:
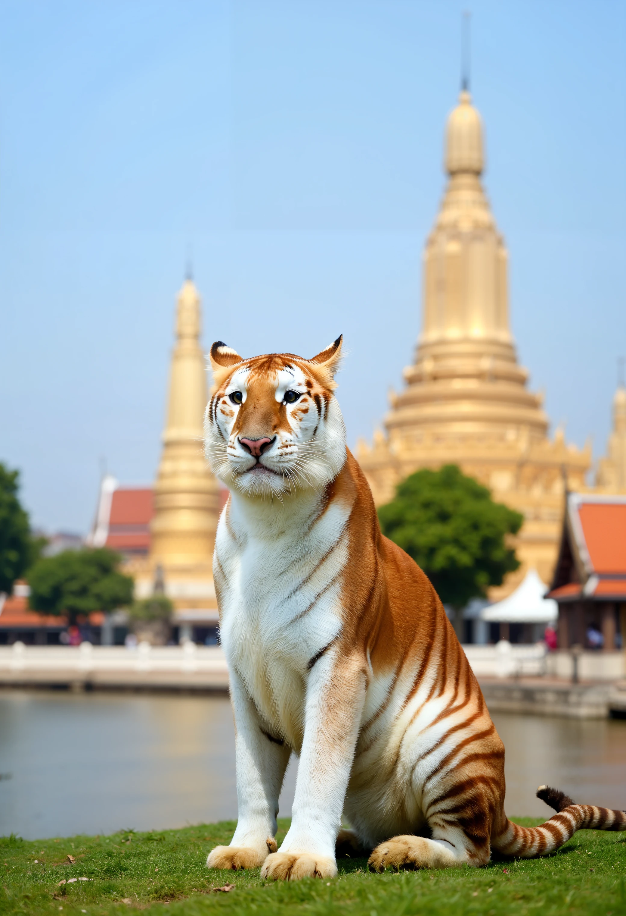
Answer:
[[[292,822],[262,878],[334,878],[335,842],[350,778],[363,703],[362,660],[329,651],[309,674],[305,731]]]

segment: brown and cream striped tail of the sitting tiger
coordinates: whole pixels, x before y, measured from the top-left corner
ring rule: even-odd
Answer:
[[[549,786],[539,786],[537,798],[558,813],[538,827],[520,827],[507,820],[502,833],[491,838],[493,849],[505,856],[534,858],[558,849],[577,830],[626,830],[626,812],[576,804],[565,792]]]

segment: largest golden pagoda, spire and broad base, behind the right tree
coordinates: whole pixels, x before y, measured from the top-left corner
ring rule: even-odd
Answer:
[[[360,442],[359,461],[378,505],[422,467],[459,464],[493,497],[523,513],[522,567],[491,595],[509,594],[529,568],[550,582],[564,505],[584,486],[591,454],[547,438],[542,397],[526,387],[509,326],[507,252],[480,175],[480,114],[462,91],[448,118],[448,187],[424,251],[422,332],[406,387],[392,393],[386,435]]]

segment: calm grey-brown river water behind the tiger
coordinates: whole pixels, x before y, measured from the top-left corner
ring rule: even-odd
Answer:
[[[541,783],[626,808],[626,721],[494,714],[506,811],[549,813]],[[295,761],[280,813],[291,812]],[[235,818],[234,733],[222,697],[0,692],[0,835],[161,830]]]

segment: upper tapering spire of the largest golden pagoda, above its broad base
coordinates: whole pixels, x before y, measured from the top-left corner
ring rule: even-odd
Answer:
[[[385,419],[390,443],[543,440],[509,327],[507,252],[480,182],[480,114],[461,90],[448,117],[448,183],[424,249],[422,330],[407,387]]]

